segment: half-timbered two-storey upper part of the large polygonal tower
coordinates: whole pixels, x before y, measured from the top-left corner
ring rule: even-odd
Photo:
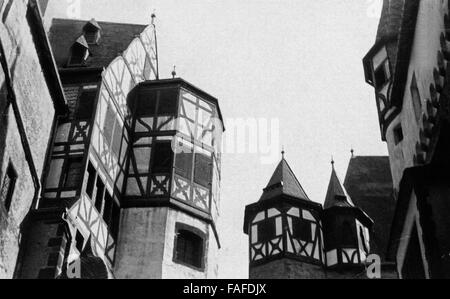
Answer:
[[[195,90],[175,79],[142,83],[129,95],[128,199],[164,197],[199,213],[217,209],[223,124],[217,100]]]

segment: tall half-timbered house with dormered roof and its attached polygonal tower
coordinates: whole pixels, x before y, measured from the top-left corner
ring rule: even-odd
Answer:
[[[49,35],[67,113],[54,123],[17,277],[215,278],[218,100],[158,79],[153,20],[55,19]]]

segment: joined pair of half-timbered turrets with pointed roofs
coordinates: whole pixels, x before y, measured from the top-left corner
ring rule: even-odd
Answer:
[[[245,210],[250,278],[366,278],[372,225],[334,162],[323,208],[308,198],[283,157],[260,200]]]

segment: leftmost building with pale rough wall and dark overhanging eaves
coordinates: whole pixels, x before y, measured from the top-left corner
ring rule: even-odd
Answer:
[[[0,1],[0,278],[12,278],[37,206],[63,87],[36,1]]]

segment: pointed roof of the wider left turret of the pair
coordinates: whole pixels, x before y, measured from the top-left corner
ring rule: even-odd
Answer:
[[[267,184],[267,187],[264,189],[264,193],[259,201],[272,199],[279,195],[288,195],[310,201],[284,157],[275,169],[275,172],[272,175],[269,184]]]

